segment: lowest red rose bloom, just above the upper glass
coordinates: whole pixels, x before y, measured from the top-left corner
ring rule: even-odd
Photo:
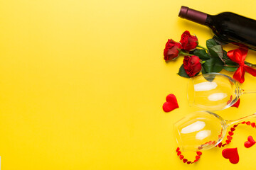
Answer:
[[[196,55],[185,56],[183,60],[183,67],[189,77],[194,77],[202,69],[200,59]]]

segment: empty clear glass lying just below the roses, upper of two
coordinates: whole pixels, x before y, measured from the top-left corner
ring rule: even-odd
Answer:
[[[235,79],[220,73],[201,74],[188,80],[188,104],[206,111],[229,108],[245,91]]]

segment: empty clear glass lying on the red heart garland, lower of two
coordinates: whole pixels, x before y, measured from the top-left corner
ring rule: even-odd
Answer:
[[[181,151],[211,149],[223,140],[230,125],[255,117],[256,113],[238,120],[224,120],[210,111],[197,111],[174,123],[174,135]]]

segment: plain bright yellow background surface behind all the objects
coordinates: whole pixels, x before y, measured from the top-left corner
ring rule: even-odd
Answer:
[[[183,57],[166,64],[164,45],[169,38],[179,41],[184,30],[203,46],[212,37],[208,28],[178,18],[181,5],[256,18],[256,1],[249,0],[1,0],[1,168],[255,167],[256,147],[243,146],[248,135],[256,139],[247,127],[238,128],[229,145],[238,147],[238,164],[218,148],[193,165],[176,156],[172,124],[196,109],[186,101],[187,79],[176,74]],[[256,63],[256,52],[250,50],[247,61]],[[246,74],[242,86],[255,84]],[[168,94],[180,108],[164,113]],[[235,119],[254,113],[255,98],[244,95],[240,108],[218,114]]]

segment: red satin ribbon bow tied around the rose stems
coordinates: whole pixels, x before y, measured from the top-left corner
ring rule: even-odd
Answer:
[[[247,52],[247,49],[245,50],[243,48],[238,48],[235,50],[230,50],[227,54],[230,60],[240,65],[240,67],[238,67],[238,69],[235,71],[235,74],[233,75],[233,78],[240,83],[245,81],[245,71],[256,77],[256,69],[253,69],[252,67],[249,67],[245,64],[245,57]]]

